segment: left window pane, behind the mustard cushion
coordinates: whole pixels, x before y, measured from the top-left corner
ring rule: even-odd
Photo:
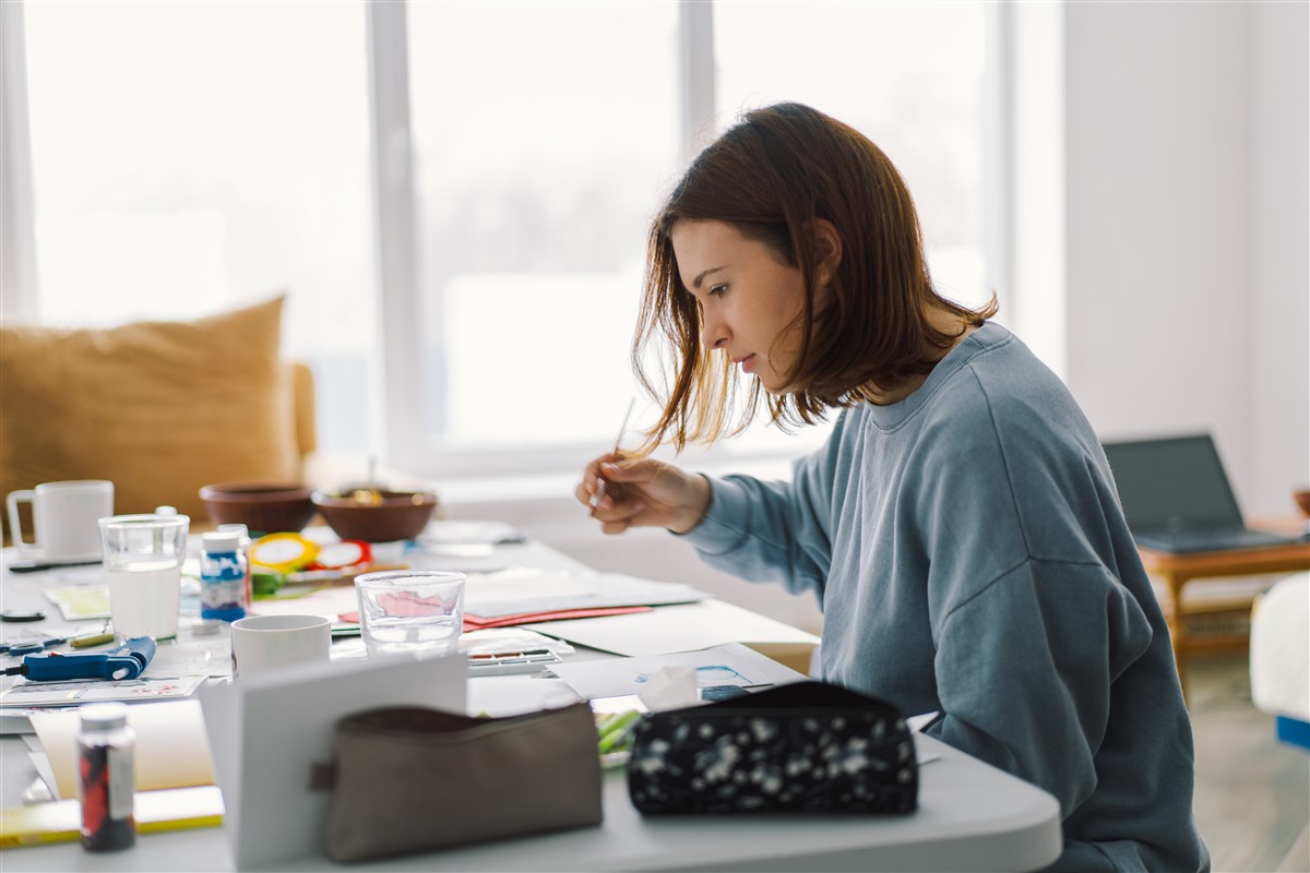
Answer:
[[[377,343],[363,7],[24,13],[37,315],[186,319],[286,292],[321,442],[363,457]]]

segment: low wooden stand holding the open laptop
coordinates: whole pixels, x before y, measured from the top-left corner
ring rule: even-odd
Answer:
[[[1183,589],[1187,584],[1196,579],[1294,573],[1310,569],[1310,543],[1192,555],[1172,555],[1150,548],[1138,548],[1137,551],[1141,554],[1146,572],[1162,580],[1169,588],[1170,602],[1165,605],[1165,616],[1169,619],[1169,632],[1174,643],[1174,662],[1178,665],[1178,679],[1183,683],[1184,700],[1187,699],[1188,656],[1193,652],[1241,650],[1250,643],[1246,633],[1214,633],[1192,639],[1187,631],[1187,616],[1238,610],[1250,611],[1251,609],[1251,598],[1242,598],[1207,603],[1203,607],[1188,610],[1183,603]]]

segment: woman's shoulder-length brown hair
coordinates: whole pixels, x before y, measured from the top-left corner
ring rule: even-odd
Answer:
[[[837,228],[842,241],[828,293],[816,305],[814,220]],[[741,406],[739,376],[726,353],[701,346],[700,302],[683,287],[671,232],[683,220],[717,220],[766,243],[800,270],[804,305],[796,317],[800,347],[783,395],[755,381]],[[646,453],[668,437],[713,442],[745,429],[766,398],[770,421],[812,424],[831,408],[853,406],[871,391],[896,389],[933,369],[956,335],[937,330],[937,309],[981,325],[996,314],[941,297],[924,258],[914,203],[896,168],[866,136],[800,103],[756,109],[702,151],[651,224],[642,310],[633,340],[638,381],[655,398],[667,395],[647,433]],[[645,353],[658,344],[672,383],[652,385]],[[663,380],[662,380],[663,381]]]

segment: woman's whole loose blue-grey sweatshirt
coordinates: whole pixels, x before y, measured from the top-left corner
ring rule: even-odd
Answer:
[[[820,678],[1055,794],[1053,869],[1205,870],[1169,630],[1096,435],[986,323],[910,397],[845,410],[791,482],[711,479],[714,567],[814,592]]]

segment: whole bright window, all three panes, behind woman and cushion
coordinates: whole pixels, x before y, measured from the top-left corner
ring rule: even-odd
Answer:
[[[444,478],[572,471],[608,448],[637,394],[645,233],[690,151],[688,106],[713,107],[702,140],[779,99],[865,131],[907,175],[943,292],[988,296],[981,3],[22,9],[28,314],[189,318],[286,291],[329,454]],[[388,58],[407,58],[392,79]],[[373,148],[380,111],[401,116],[398,148]],[[377,230],[388,179],[411,209],[403,245]],[[394,387],[371,390],[389,349]],[[823,433],[757,425],[715,452],[795,454]]]

